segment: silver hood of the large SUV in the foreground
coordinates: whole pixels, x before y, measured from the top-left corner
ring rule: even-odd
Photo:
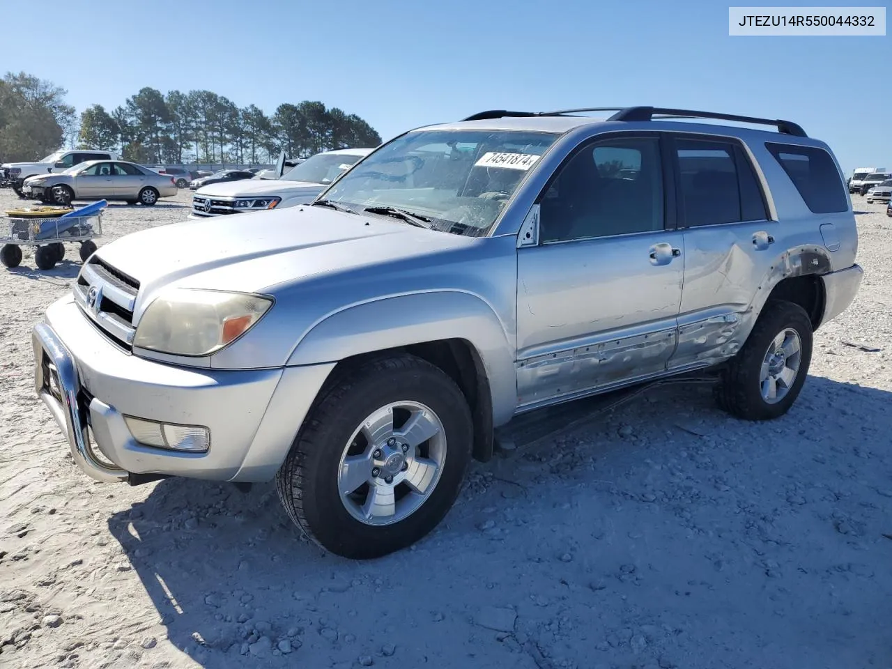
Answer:
[[[319,207],[186,220],[125,235],[97,257],[140,283],[135,317],[165,287],[277,293],[354,269],[456,250],[472,237]]]

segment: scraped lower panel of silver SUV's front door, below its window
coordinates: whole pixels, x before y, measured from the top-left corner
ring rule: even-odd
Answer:
[[[665,371],[675,349],[683,238],[624,235],[517,252],[518,404]],[[666,264],[652,247],[679,250]]]

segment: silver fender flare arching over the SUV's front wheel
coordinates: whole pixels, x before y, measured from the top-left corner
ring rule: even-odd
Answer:
[[[461,339],[474,347],[487,376],[494,425],[516,409],[513,327],[474,293],[444,290],[361,302],[314,323],[301,336],[287,366],[337,362],[410,344]]]

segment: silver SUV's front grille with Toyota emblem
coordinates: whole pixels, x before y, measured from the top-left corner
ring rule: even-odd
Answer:
[[[74,286],[74,301],[95,326],[126,351],[133,347],[133,307],[139,282],[93,256]]]

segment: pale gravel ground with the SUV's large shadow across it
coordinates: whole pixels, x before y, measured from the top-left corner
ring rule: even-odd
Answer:
[[[271,484],[80,474],[29,342],[79,261],[0,268],[0,665],[892,666],[892,219],[853,200],[862,289],[786,417],[648,391],[475,465],[434,533],[365,563],[303,541]],[[98,242],[187,202],[112,206]]]

